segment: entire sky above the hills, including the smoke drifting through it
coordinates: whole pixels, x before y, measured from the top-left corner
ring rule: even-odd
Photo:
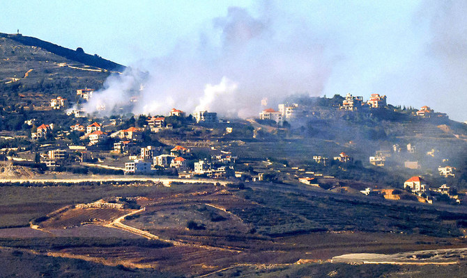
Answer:
[[[170,105],[194,99],[180,105],[187,110],[247,117],[265,98],[273,106],[293,93],[350,92],[467,120],[463,0],[20,3],[0,0],[0,32],[20,29],[146,72],[113,77],[102,94],[144,83],[147,105],[136,113],[162,113],[161,95]]]

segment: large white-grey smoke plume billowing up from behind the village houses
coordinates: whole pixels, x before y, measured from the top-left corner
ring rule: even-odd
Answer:
[[[171,54],[111,76],[88,113],[164,115],[171,108],[249,117],[287,95],[321,95],[330,74],[324,42],[299,20],[265,6],[257,17],[231,7],[211,28],[181,40]],[[141,74],[144,72],[145,74]],[[139,90],[140,85],[143,90]],[[213,85],[214,84],[214,85]],[[130,103],[130,98],[137,99]]]

